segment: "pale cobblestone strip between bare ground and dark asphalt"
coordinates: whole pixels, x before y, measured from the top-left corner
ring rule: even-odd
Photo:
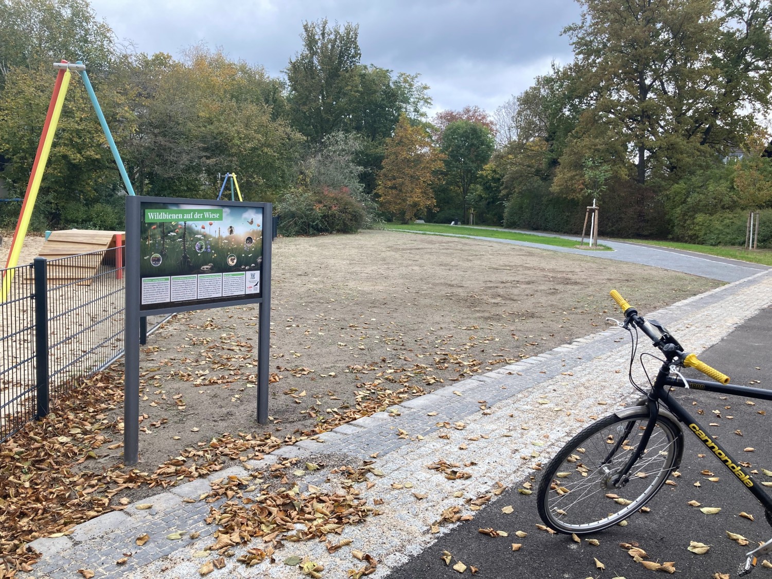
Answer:
[[[764,272],[644,315],[664,323],[685,347],[699,354],[769,303],[772,273]],[[647,346],[641,340],[639,351],[647,350]],[[372,489],[361,486],[360,498],[368,503],[382,499],[383,505],[378,508],[383,514],[344,528],[342,537],[354,543],[335,554],[329,554],[323,543],[310,541],[286,543],[277,558],[307,556],[323,564],[325,577],[345,577],[347,569],[358,563],[350,550],[364,550],[379,561],[378,571],[369,577],[384,577],[391,567],[404,563],[436,540],[439,535],[428,533],[428,529],[442,510],[458,505],[469,512],[464,499],[454,497],[454,493],[474,497],[490,493],[497,483],[510,486],[519,482],[530,472],[533,462],[548,459],[560,449],[561,442],[587,422],[635,399],[637,392],[626,380],[628,360],[626,332],[611,328],[406,401],[390,408],[391,415],[379,412],[342,425],[320,435],[323,442],[306,440],[277,450],[265,461],[248,462],[247,468],[264,469],[277,457],[321,454],[362,459],[378,452],[376,466],[384,476],[374,479]],[[645,380],[639,370],[634,376]],[[445,428],[442,422],[463,422],[464,427]],[[401,438],[398,429],[407,432],[407,437]],[[534,454],[538,459],[533,458]],[[425,468],[438,460],[468,462],[464,469],[472,477],[449,480]],[[350,463],[354,462],[352,458]],[[246,476],[247,472],[242,466],[234,466],[147,499],[153,504],[150,510],[130,506],[78,525],[69,537],[36,540],[32,547],[43,556],[35,566],[34,577],[80,577],[77,570],[81,568],[94,571],[97,578],[198,577],[198,567],[205,559],[194,559],[192,554],[212,542],[208,536],[215,527],[204,523],[212,505],[201,501],[183,503],[182,499],[198,499],[208,492],[212,480],[230,474]],[[411,482],[412,487],[392,488],[394,483],[405,482]],[[301,491],[305,490],[304,484],[332,492],[340,488],[328,469],[304,476]],[[428,496],[419,500],[412,491]],[[441,533],[447,528],[442,527]],[[201,537],[165,538],[178,530],[198,531]],[[142,533],[148,533],[151,540],[137,547],[134,540]],[[242,550],[235,549],[236,554]],[[115,561],[124,553],[132,556],[119,567]],[[215,571],[212,577],[300,577],[300,573],[281,564],[262,563],[247,569],[230,557],[225,568]]]

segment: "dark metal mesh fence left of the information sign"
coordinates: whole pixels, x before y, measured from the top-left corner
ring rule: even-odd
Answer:
[[[49,398],[65,394],[76,378],[123,355],[123,250],[13,268],[0,302],[0,440],[45,415]],[[148,317],[147,333],[166,319]]]

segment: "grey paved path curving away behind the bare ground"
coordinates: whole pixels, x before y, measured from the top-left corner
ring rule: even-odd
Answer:
[[[480,228],[484,229],[484,228]],[[417,230],[398,229],[395,231],[422,233]],[[501,231],[501,229],[496,229]],[[521,231],[519,229],[505,229],[517,233],[527,233],[529,235],[542,235],[549,237],[562,237],[564,239],[574,239],[577,243],[580,238],[573,235],[560,235],[552,233],[537,233],[530,231]],[[559,247],[557,245],[544,245],[541,243],[516,241],[513,239],[493,239],[478,235],[456,235],[453,233],[432,233],[431,235],[446,235],[448,237],[467,237],[469,239],[480,239],[482,241],[509,243],[510,245],[523,245],[534,249],[546,249],[548,251],[574,253],[581,256],[589,256],[598,259],[614,259],[615,261],[640,263],[642,266],[661,267],[663,269],[672,269],[673,271],[692,273],[696,276],[709,277],[711,279],[720,279],[724,282],[736,282],[740,279],[754,276],[761,271],[767,271],[769,266],[763,266],[759,263],[743,262],[739,259],[726,259],[717,256],[708,256],[703,253],[688,252],[682,249],[669,249],[657,247],[655,245],[645,245],[642,243],[615,242],[601,239],[602,245],[608,245],[613,251],[600,251],[589,249],[574,249],[572,247]]]

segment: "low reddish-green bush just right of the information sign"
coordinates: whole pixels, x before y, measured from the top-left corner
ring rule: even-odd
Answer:
[[[323,233],[355,233],[365,222],[365,211],[346,188],[313,193],[295,189],[286,192],[276,204],[279,233],[320,235]]]

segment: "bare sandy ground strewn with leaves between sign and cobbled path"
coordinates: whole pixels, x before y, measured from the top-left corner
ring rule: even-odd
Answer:
[[[650,311],[720,285],[399,232],[277,239],[273,252],[271,424],[256,422],[257,308],[181,314],[142,352],[143,469],[223,432],[307,435],[603,330],[610,289]]]

